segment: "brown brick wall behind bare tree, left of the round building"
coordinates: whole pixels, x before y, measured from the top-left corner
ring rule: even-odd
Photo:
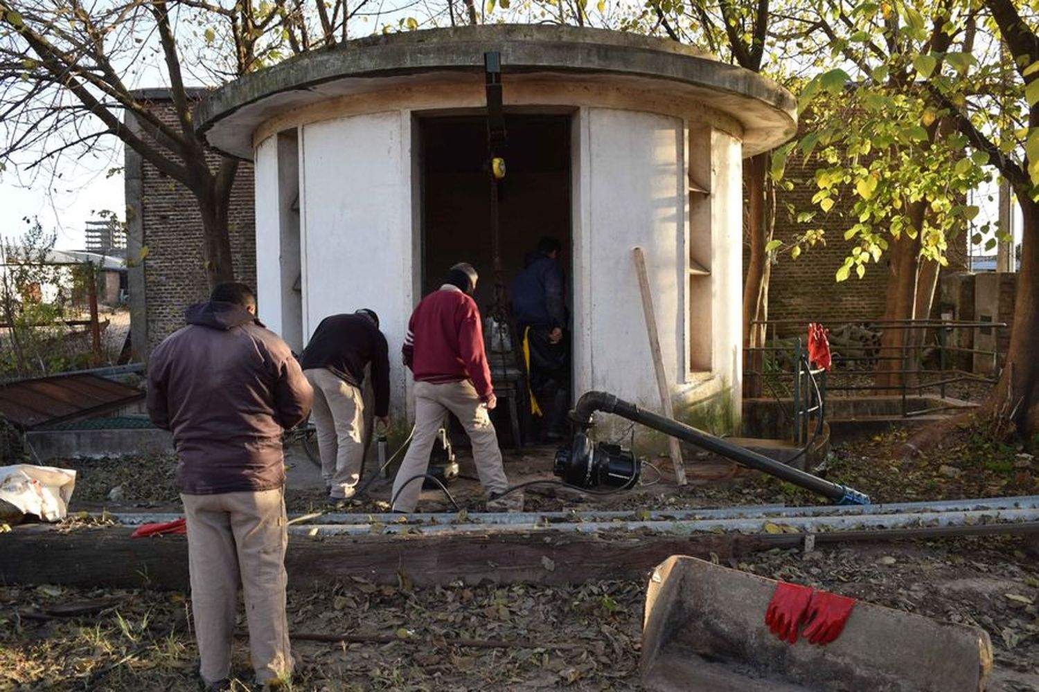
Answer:
[[[154,112],[163,120],[176,122],[172,104],[163,94],[150,94]],[[219,158],[208,157],[215,170]],[[131,170],[134,169],[134,170]],[[209,294],[203,264],[202,216],[194,196],[184,186],[163,175],[135,153],[127,153],[128,256],[141,255],[138,262],[139,295],[135,321],[138,324],[133,342],[136,355],[143,356],[168,334],[184,326],[184,310],[205,300]],[[242,162],[231,195],[229,214],[231,250],[235,257],[235,277],[256,286],[256,218],[252,190],[252,165]],[[136,250],[136,251],[134,251]],[[142,286],[140,285],[142,284]],[[141,305],[142,303],[142,305]],[[137,344],[143,343],[143,353]]]

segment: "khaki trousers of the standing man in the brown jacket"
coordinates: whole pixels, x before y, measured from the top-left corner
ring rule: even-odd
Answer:
[[[289,533],[284,490],[181,494],[188,529],[191,611],[207,683],[230,676],[238,586],[258,683],[292,674],[285,614]]]

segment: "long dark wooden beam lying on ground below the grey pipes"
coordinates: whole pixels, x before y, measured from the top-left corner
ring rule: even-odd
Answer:
[[[187,539],[131,538],[132,528],[58,533],[23,526],[4,534],[0,582],[119,588],[188,587]],[[361,577],[396,584],[398,574],[419,586],[461,580],[500,583],[581,583],[642,580],[670,555],[720,558],[765,547],[760,536],[703,534],[604,538],[594,534],[467,536],[325,536],[289,539],[286,568],[295,585]]]

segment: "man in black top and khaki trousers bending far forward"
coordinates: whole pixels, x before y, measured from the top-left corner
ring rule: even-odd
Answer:
[[[363,308],[334,314],[318,325],[299,357],[314,387],[311,419],[318,431],[321,475],[328,500],[353,497],[365,461],[365,367],[371,363],[375,420],[390,424],[390,357],[379,316]]]

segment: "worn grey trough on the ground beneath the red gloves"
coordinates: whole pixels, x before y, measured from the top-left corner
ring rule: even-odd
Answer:
[[[640,670],[658,692],[978,692],[992,667],[980,628],[859,602],[827,646],[779,641],[765,625],[776,582],[685,556],[646,592]]]

